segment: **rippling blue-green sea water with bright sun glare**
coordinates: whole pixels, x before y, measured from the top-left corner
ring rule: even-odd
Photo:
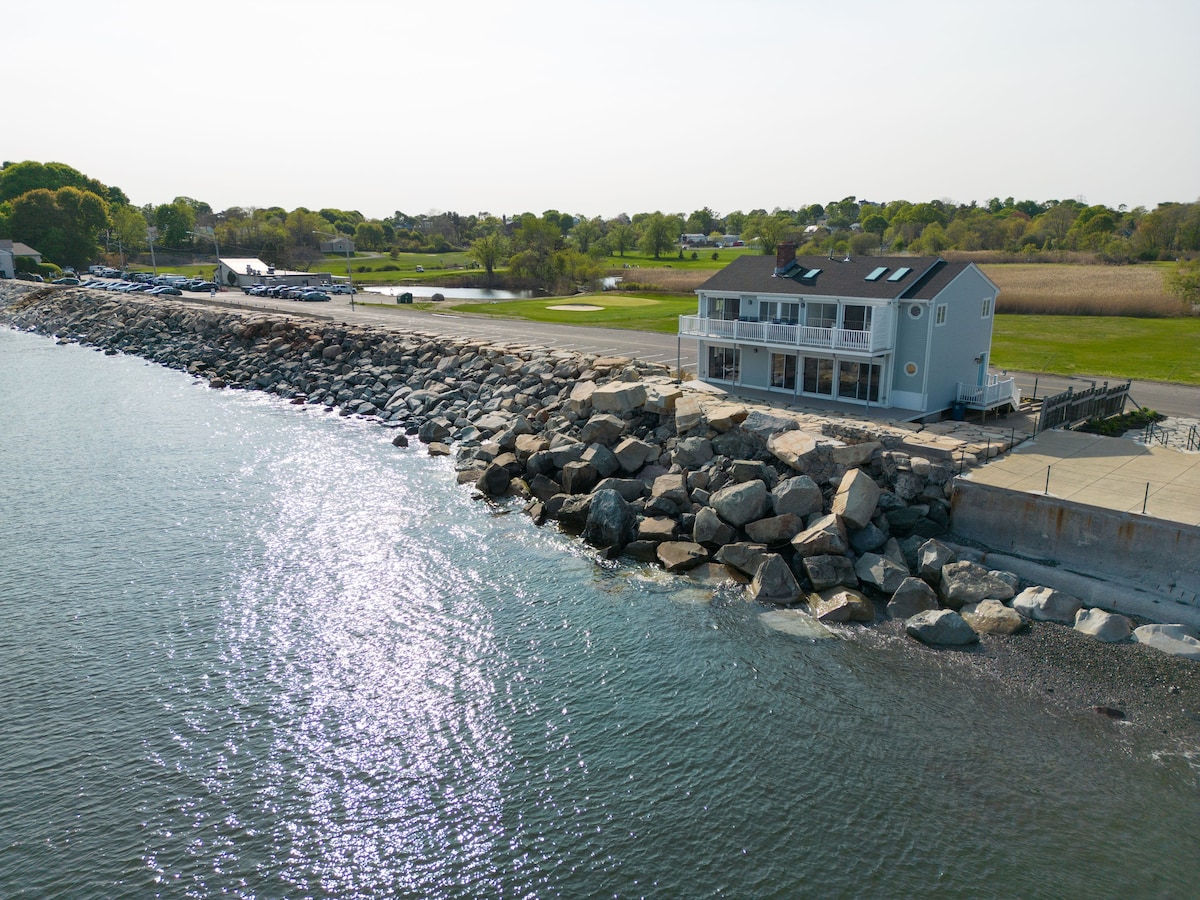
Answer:
[[[0,896],[1184,896],[1194,763],[0,330]],[[1165,739],[1164,739],[1165,740]]]

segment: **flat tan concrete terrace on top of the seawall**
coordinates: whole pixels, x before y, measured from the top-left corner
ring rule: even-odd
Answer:
[[[1051,497],[1200,526],[1200,454],[1127,438],[1044,431],[965,478],[1042,494],[1048,468]]]

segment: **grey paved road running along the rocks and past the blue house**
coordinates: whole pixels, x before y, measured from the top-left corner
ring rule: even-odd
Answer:
[[[188,299],[208,299],[208,295],[190,295]],[[515,322],[509,319],[458,316],[455,313],[427,313],[412,307],[364,306],[355,304],[350,308],[349,298],[335,296],[329,304],[301,304],[295,300],[272,300],[270,298],[251,298],[241,294],[223,293],[220,300],[236,302],[241,306],[272,308],[290,313],[302,313],[334,318],[338,322],[397,325],[410,324],[422,331],[481,337],[498,341],[512,341],[541,347],[581,350],[614,356],[636,356],[654,362],[664,362],[674,367],[678,361],[684,370],[695,372],[696,343],[690,340],[678,341],[676,335],[661,335],[649,331],[626,331],[607,328],[578,328],[572,325],[545,325],[536,322]],[[1044,397],[1067,390],[1086,390],[1104,380],[1116,383],[1117,379],[1070,378],[1063,376],[1039,374],[1036,372],[1010,372],[1016,378],[1022,396]],[[1170,384],[1164,382],[1134,382],[1129,396],[1139,404],[1171,416],[1200,418],[1200,386],[1188,384]]]

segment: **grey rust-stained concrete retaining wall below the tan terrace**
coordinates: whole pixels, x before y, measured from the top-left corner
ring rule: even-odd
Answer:
[[[955,534],[1200,606],[1200,527],[956,479]]]

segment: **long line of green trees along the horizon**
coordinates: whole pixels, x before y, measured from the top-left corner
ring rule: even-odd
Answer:
[[[550,290],[593,283],[632,251],[660,259],[683,253],[680,235],[720,244],[737,236],[763,253],[781,241],[803,254],[992,252],[1022,259],[1084,253],[1109,264],[1182,259],[1171,283],[1189,284],[1200,256],[1200,203],[1111,209],[1078,199],[986,203],[871,202],[846,197],[798,209],[719,214],[637,212],[611,218],[546,210],[516,216],[396,210],[368,218],[356,210],[281,206],[214,210],[191,197],[134,206],[64,163],[6,162],[0,168],[0,236],[20,240],[60,265],[80,266],[114,254],[205,253],[257,257],[307,270],[324,258],[322,241],[347,236],[358,251],[467,251],[491,278]],[[1194,275],[1192,276],[1194,281]],[[1184,290],[1188,288],[1184,287]]]

